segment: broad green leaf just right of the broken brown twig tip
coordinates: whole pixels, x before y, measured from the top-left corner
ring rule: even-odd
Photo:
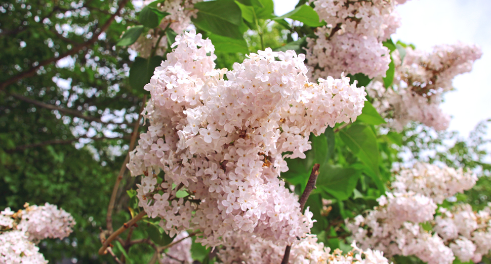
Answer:
[[[346,200],[353,193],[360,175],[358,170],[324,163],[320,166],[316,186],[338,200]]]

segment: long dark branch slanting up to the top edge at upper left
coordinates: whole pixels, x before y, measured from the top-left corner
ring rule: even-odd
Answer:
[[[49,65],[51,63],[57,62],[57,61],[65,58],[65,57],[68,57],[68,56],[71,56],[71,55],[75,55],[75,54],[78,53],[79,50],[82,50],[83,48],[88,47],[88,46],[91,46],[92,44],[94,44],[98,40],[98,37],[102,34],[102,32],[106,31],[109,28],[109,26],[111,25],[112,21],[114,21],[115,17],[117,15],[119,15],[119,12],[128,3],[128,1],[129,0],[121,0],[121,2],[119,3],[119,6],[118,6],[118,9],[116,10],[116,12],[114,12],[114,14],[112,14],[111,17],[109,17],[109,19],[106,21],[106,23],[104,23],[104,25],[102,25],[102,27],[96,28],[94,30],[93,36],[92,36],[91,39],[89,39],[88,41],[86,41],[84,43],[81,43],[79,45],[74,46],[71,50],[65,52],[64,54],[62,54],[62,55],[60,55],[58,57],[53,57],[51,59],[48,59],[48,60],[39,62],[36,66],[30,68],[29,70],[24,71],[24,72],[21,72],[21,73],[15,75],[15,76],[10,77],[6,81],[4,81],[2,84],[0,84],[0,90],[5,89],[5,87],[7,87],[7,86],[9,86],[9,85],[11,85],[11,84],[13,84],[13,83],[15,83],[15,82],[23,79],[23,78],[31,77],[41,67],[44,67],[44,66]]]

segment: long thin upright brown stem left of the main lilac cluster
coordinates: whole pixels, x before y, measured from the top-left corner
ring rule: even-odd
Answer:
[[[117,175],[116,182],[114,183],[114,187],[112,188],[111,199],[109,200],[109,205],[107,207],[107,215],[106,215],[106,227],[109,232],[112,232],[112,210],[114,209],[114,203],[116,201],[117,190],[119,189],[119,183],[121,182],[123,175],[126,172],[126,165],[130,161],[130,152],[133,151],[135,147],[135,141],[138,136],[138,129],[140,128],[140,120],[142,119],[143,108],[145,107],[145,102],[147,101],[147,95],[143,96],[142,107],[140,108],[140,112],[138,115],[138,120],[135,122],[135,126],[133,127],[133,132],[130,140],[130,148],[128,149],[128,154],[126,154],[125,161],[121,165],[121,169],[119,169],[119,174]]]

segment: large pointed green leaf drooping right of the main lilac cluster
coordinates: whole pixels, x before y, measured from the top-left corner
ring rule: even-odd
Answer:
[[[353,154],[376,176],[380,177],[379,146],[373,130],[365,125],[354,124],[339,132],[341,139]]]

